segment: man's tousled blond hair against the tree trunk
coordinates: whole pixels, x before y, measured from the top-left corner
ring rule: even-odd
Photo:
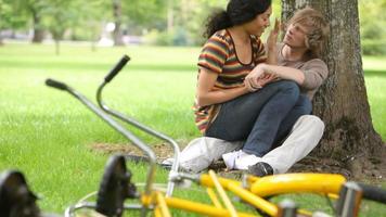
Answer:
[[[330,34],[330,25],[322,13],[306,7],[295,12],[288,25],[299,24],[306,28],[306,47],[310,58],[320,58],[324,42]]]

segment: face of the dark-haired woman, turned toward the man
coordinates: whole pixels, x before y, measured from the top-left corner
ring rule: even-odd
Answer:
[[[245,24],[245,29],[249,35],[260,37],[269,26],[269,17],[272,14],[272,8],[269,7],[262,14],[257,15],[253,21]]]

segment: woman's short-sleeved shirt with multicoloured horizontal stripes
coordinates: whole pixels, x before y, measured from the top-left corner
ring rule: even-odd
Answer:
[[[259,63],[267,60],[260,38],[250,36],[252,61],[242,63],[236,54],[233,39],[227,29],[215,33],[204,44],[198,58],[198,73],[206,68],[217,73],[218,77],[213,90],[231,89],[244,86],[244,78]],[[201,132],[216,118],[221,104],[198,106],[194,104],[195,123]]]

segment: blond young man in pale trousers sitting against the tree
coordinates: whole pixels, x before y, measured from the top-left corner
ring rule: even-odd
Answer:
[[[270,82],[272,77],[290,79],[297,82],[303,97],[307,95],[311,101],[329,73],[325,63],[319,59],[327,34],[329,24],[321,13],[310,8],[299,10],[288,22],[282,43],[275,43],[278,33],[273,31],[269,37],[268,52],[275,54],[269,55],[272,58],[270,62],[276,64],[258,64],[246,76],[245,86],[252,91],[259,91],[258,89]],[[293,112],[297,112],[296,107]],[[228,142],[203,137],[193,140],[182,151],[180,166],[197,173],[222,155],[229,169],[247,169],[256,176],[285,173],[318,144],[324,130],[323,122],[317,116],[304,115],[293,119],[294,117],[299,115],[288,114],[283,119],[276,132],[276,142],[291,131],[290,136],[280,146],[263,156],[248,153],[242,141]]]

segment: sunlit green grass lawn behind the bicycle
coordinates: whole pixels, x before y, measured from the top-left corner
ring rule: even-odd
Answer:
[[[105,102],[186,143],[198,136],[191,111],[198,52],[198,48],[155,47],[99,48],[92,52],[87,46],[66,44],[56,56],[53,46],[0,47],[0,170],[22,170],[42,197],[39,205],[43,210],[62,213],[95,191],[108,155],[91,146],[127,141],[69,94],[43,84],[48,77],[55,78],[94,100],[99,84],[123,54],[132,60],[106,87]],[[384,140],[385,61],[364,59],[373,123]],[[144,141],[157,142],[149,137]],[[144,165],[129,167],[133,181],[145,181]],[[157,173],[157,181],[164,182],[165,177],[165,171]],[[193,193],[193,197],[204,200],[200,194]]]

